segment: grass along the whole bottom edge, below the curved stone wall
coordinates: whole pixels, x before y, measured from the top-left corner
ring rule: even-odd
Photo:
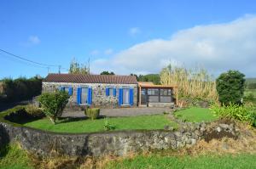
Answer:
[[[37,164],[33,164],[34,160],[26,154],[26,151],[20,149],[18,144],[10,144],[5,149],[0,151],[0,168],[1,169],[32,169],[38,168],[40,162],[43,162],[39,168],[55,168],[54,161],[59,161],[59,164],[65,163],[64,166],[70,166],[71,161],[67,163],[66,160],[61,159],[49,159],[48,162],[37,161]],[[253,169],[256,166],[256,155],[250,154],[224,154],[224,155],[137,155],[132,158],[124,158],[119,160],[109,160],[100,168],[106,169]],[[102,163],[102,161],[97,161]],[[49,163],[49,164],[48,164]],[[51,167],[49,167],[51,166]],[[64,167],[63,166],[63,167]],[[80,164],[71,165],[72,168],[95,168],[92,161],[84,161]],[[70,166],[70,167],[71,167]],[[69,167],[64,167],[69,168]]]

